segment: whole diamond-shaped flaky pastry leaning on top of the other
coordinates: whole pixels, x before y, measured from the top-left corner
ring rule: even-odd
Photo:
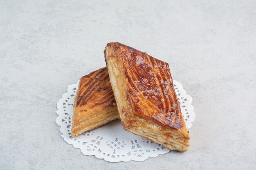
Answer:
[[[187,151],[189,132],[168,64],[118,42],[108,43],[104,54],[124,129]]]

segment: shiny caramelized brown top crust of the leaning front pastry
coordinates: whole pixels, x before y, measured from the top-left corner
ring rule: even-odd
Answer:
[[[120,55],[134,114],[177,130],[186,127],[168,63],[118,42],[107,46]]]

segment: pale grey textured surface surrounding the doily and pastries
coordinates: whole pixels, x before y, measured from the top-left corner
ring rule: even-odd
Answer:
[[[0,0],[0,169],[256,169],[256,1]],[[61,138],[67,85],[121,42],[170,64],[193,97],[188,152],[84,156]]]

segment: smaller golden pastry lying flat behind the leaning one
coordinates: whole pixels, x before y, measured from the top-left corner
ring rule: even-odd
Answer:
[[[119,115],[108,68],[104,67],[81,77],[73,107],[72,137],[115,119],[119,119]]]

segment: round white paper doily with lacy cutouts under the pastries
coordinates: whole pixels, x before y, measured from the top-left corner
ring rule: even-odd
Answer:
[[[63,133],[61,136],[68,144],[81,149],[83,155],[95,155],[110,162],[144,161],[148,157],[157,157],[170,151],[162,145],[125,131],[120,120],[77,137],[71,137],[74,96],[78,83],[69,85],[67,93],[64,93],[57,103],[56,123],[61,126]],[[179,82],[173,80],[173,85],[186,127],[190,128],[191,122],[195,119],[191,106],[192,98],[186,94]]]

